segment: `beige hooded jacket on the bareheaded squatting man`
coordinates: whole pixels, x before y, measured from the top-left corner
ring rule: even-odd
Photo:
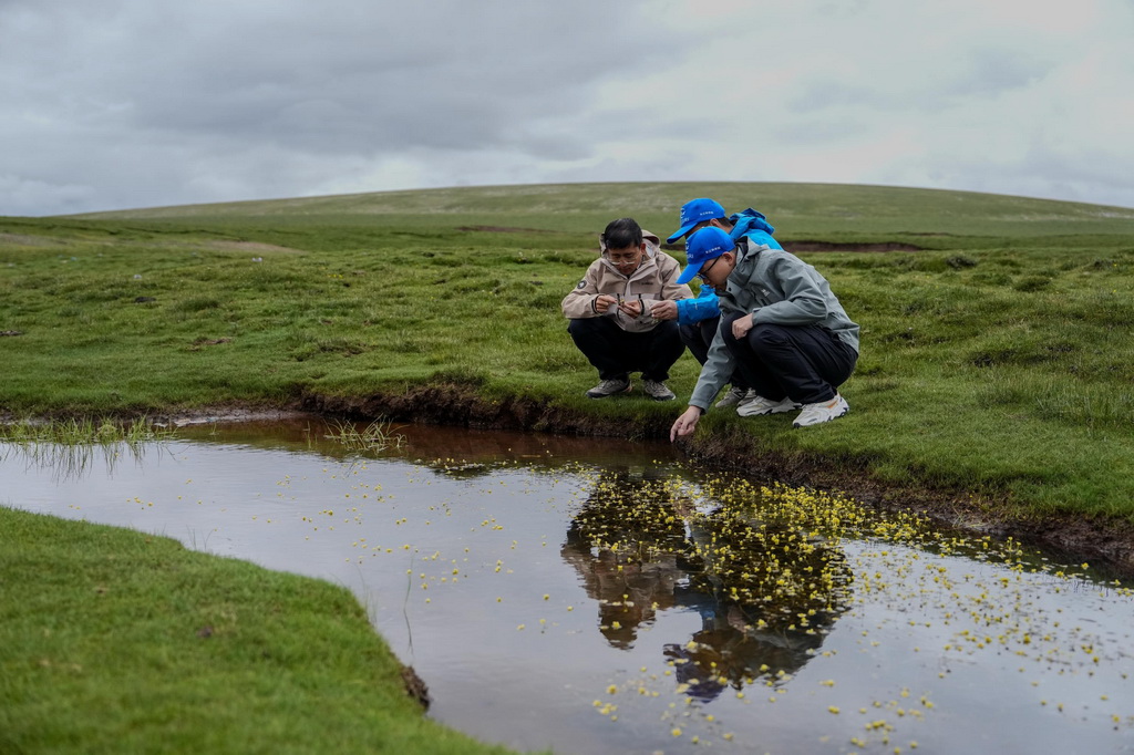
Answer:
[[[666,299],[676,302],[691,298],[693,292],[689,287],[677,283],[682,265],[661,251],[661,239],[645,229],[642,230],[642,239],[645,241],[642,264],[628,278],[618,272],[607,257],[607,248],[603,246],[602,255],[591,263],[575,290],[564,298],[564,316],[568,320],[613,317],[615,323],[626,332],[643,333],[658,325],[658,321],[650,315],[653,304]],[[603,294],[618,296],[624,300],[640,299],[642,315],[629,317],[617,307],[610,307],[606,313],[599,312],[595,309],[595,300]]]

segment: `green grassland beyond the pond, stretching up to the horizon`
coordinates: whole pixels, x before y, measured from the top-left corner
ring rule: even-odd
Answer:
[[[0,221],[0,408],[152,412],[457,382],[655,433],[672,406],[581,397],[559,314],[618,215],[660,234],[683,200],[755,205],[863,326],[852,414],[710,430],[1017,514],[1134,519],[1134,210],[784,184],[395,192]],[[839,248],[839,247],[833,247]],[[675,252],[680,256],[679,252]],[[692,389],[686,356],[672,385]]]

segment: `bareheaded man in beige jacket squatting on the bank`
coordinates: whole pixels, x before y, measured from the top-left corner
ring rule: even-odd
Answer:
[[[599,241],[599,258],[562,302],[567,332],[599,371],[599,384],[586,395],[629,392],[631,373],[641,372],[646,396],[670,401],[666,380],[685,350],[674,302],[693,296],[677,282],[682,265],[633,218],[611,221]]]

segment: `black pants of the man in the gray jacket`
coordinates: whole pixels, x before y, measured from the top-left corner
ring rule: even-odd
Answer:
[[[854,372],[857,353],[827,328],[760,324],[737,340],[733,322],[743,316],[725,319],[725,343],[744,380],[769,401],[829,401]]]

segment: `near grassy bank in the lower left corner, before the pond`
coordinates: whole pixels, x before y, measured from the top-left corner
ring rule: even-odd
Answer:
[[[503,753],[421,715],[344,587],[0,508],[2,753]]]

